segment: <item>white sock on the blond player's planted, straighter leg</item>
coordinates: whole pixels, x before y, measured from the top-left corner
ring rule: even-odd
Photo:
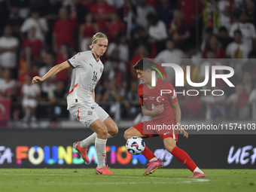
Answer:
[[[107,142],[107,139],[99,139],[97,137],[95,139],[95,149],[96,149],[96,154],[98,158],[98,169],[102,169],[102,167],[105,166],[106,142]]]

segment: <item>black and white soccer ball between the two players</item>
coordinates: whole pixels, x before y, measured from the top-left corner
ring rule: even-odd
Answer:
[[[145,142],[141,137],[133,136],[126,142],[126,150],[130,154],[141,154],[145,149]]]

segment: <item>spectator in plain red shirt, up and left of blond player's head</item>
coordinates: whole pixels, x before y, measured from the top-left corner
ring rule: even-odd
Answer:
[[[76,20],[69,19],[66,8],[59,10],[59,20],[56,20],[53,27],[53,50],[57,50],[62,44],[68,44],[73,48],[75,45],[75,29],[78,28]]]

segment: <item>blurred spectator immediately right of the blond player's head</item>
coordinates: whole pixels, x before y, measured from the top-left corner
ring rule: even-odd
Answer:
[[[107,56],[111,56],[114,50],[119,50],[119,58],[125,62],[129,61],[129,46],[126,43],[126,36],[124,34],[118,34],[115,41],[108,44]]]

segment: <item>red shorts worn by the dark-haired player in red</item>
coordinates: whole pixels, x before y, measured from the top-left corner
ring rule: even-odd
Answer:
[[[176,123],[175,122],[165,122],[162,123],[162,125],[165,124],[166,127],[169,126],[171,127],[172,125],[174,126]],[[133,127],[139,131],[139,133],[142,133],[143,136],[147,136],[147,137],[155,137],[155,136],[160,136],[161,139],[166,139],[168,137],[171,137],[173,139],[175,139],[176,142],[178,142],[178,130],[175,129],[165,129],[165,130],[153,130],[154,126],[156,126],[157,123],[155,123],[153,120],[148,120],[145,121],[143,123],[139,123],[134,125]],[[172,126],[172,127],[173,127]],[[152,128],[152,129],[148,129],[148,128]],[[163,127],[162,127],[163,128]]]

